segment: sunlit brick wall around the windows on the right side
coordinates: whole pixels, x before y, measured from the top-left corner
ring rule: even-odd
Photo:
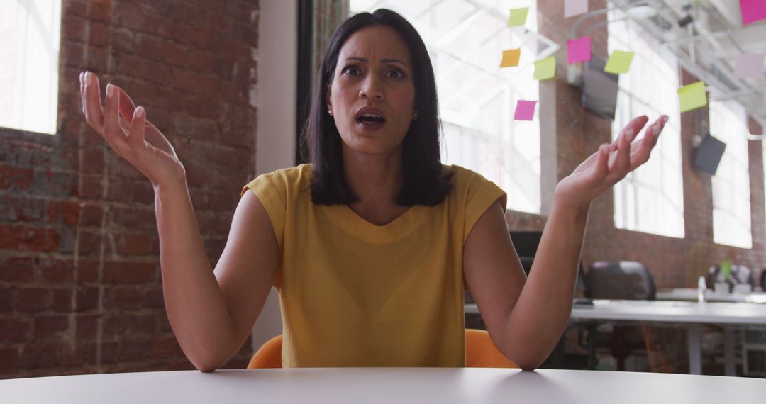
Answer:
[[[590,9],[604,8],[603,0],[591,0]],[[538,0],[539,29],[559,44],[565,44],[571,25],[577,18],[563,18],[563,2],[560,0]],[[605,21],[593,18],[594,23]],[[590,24],[590,23],[588,23]],[[581,30],[582,31],[582,28]],[[606,28],[591,32],[594,53],[607,56]],[[565,46],[558,54],[559,64],[565,60]],[[542,83],[548,86],[543,95],[541,110],[555,110],[558,178],[564,178],[577,165],[597,150],[598,145],[610,142],[610,124],[581,109],[580,90],[568,85],[559,73],[559,79]],[[684,83],[697,81],[688,73]],[[550,90],[554,87],[555,90]],[[555,96],[545,96],[555,94]],[[659,288],[696,286],[699,275],[720,262],[732,259],[735,263],[748,266],[759,275],[766,267],[764,255],[764,173],[761,142],[748,142],[750,164],[751,229],[752,249],[721,246],[712,241],[712,187],[711,177],[705,172],[692,168],[692,137],[702,134],[708,125],[707,109],[686,112],[681,115],[681,144],[683,155],[683,197],[686,236],[676,239],[647,233],[619,230],[614,227],[613,195],[607,192],[591,206],[588,217],[588,231],[583,248],[583,264],[588,266],[599,260],[628,259],[643,262],[653,275]],[[759,133],[760,127],[751,122],[751,132]],[[543,162],[545,164],[545,161]],[[545,217],[528,213],[509,213],[509,226],[515,229],[540,230]]]

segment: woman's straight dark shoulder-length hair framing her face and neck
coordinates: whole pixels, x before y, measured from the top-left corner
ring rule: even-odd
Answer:
[[[439,151],[440,121],[436,80],[428,51],[415,28],[401,15],[385,8],[372,14],[360,13],[347,19],[336,30],[322,57],[318,77],[310,96],[309,116],[301,141],[309,149],[313,163],[311,200],[314,204],[351,204],[358,200],[345,179],[342,139],[335,121],[327,114],[327,91],[332,85],[341,47],[356,31],[370,25],[394,28],[410,50],[415,87],[417,119],[411,122],[402,147],[403,184],[397,204],[434,206],[444,201],[452,184],[452,174],[444,171]],[[305,149],[305,148],[302,148]]]

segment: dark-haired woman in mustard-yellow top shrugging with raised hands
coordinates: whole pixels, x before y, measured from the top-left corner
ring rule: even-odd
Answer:
[[[400,15],[355,15],[336,31],[313,90],[313,165],[247,184],[215,270],[185,170],[123,90],[80,75],[87,122],[155,189],[165,307],[199,370],[229,360],[271,285],[280,292],[283,366],[464,366],[463,286],[493,341],[538,367],[568,322],[591,201],[647,161],[667,117],[631,147],[633,119],[555,189],[529,279],[504,218],[506,196],[440,162],[426,48]]]

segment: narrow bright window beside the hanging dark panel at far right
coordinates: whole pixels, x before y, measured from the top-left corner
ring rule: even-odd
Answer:
[[[750,174],[745,108],[734,101],[711,101],[710,132],[726,144],[712,178],[713,241],[752,248]]]

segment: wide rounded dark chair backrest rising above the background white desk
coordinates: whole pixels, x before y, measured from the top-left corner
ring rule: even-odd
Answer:
[[[588,298],[654,300],[656,295],[652,275],[636,261],[594,262],[585,283]]]

